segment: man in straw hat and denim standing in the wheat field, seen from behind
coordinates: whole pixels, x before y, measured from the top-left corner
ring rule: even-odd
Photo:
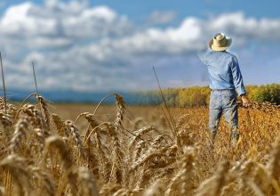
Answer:
[[[209,129],[212,139],[217,135],[220,117],[224,112],[232,141],[236,143],[239,138],[236,92],[241,97],[244,107],[249,106],[251,102],[246,96],[237,58],[226,51],[231,42],[231,38],[219,33],[209,42],[211,50],[197,54],[207,66],[212,89],[209,103]]]

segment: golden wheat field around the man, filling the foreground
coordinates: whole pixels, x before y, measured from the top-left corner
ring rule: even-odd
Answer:
[[[280,108],[239,108],[212,143],[207,108],[0,100],[0,195],[280,195]]]

